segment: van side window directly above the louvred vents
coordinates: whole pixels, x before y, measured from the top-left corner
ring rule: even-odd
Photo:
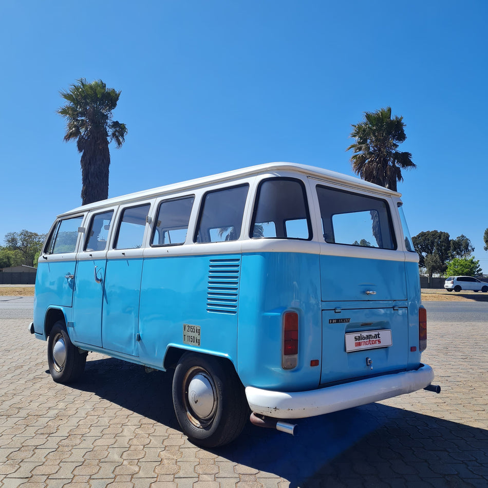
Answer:
[[[237,240],[242,227],[249,185],[207,192],[202,201],[196,242]]]

